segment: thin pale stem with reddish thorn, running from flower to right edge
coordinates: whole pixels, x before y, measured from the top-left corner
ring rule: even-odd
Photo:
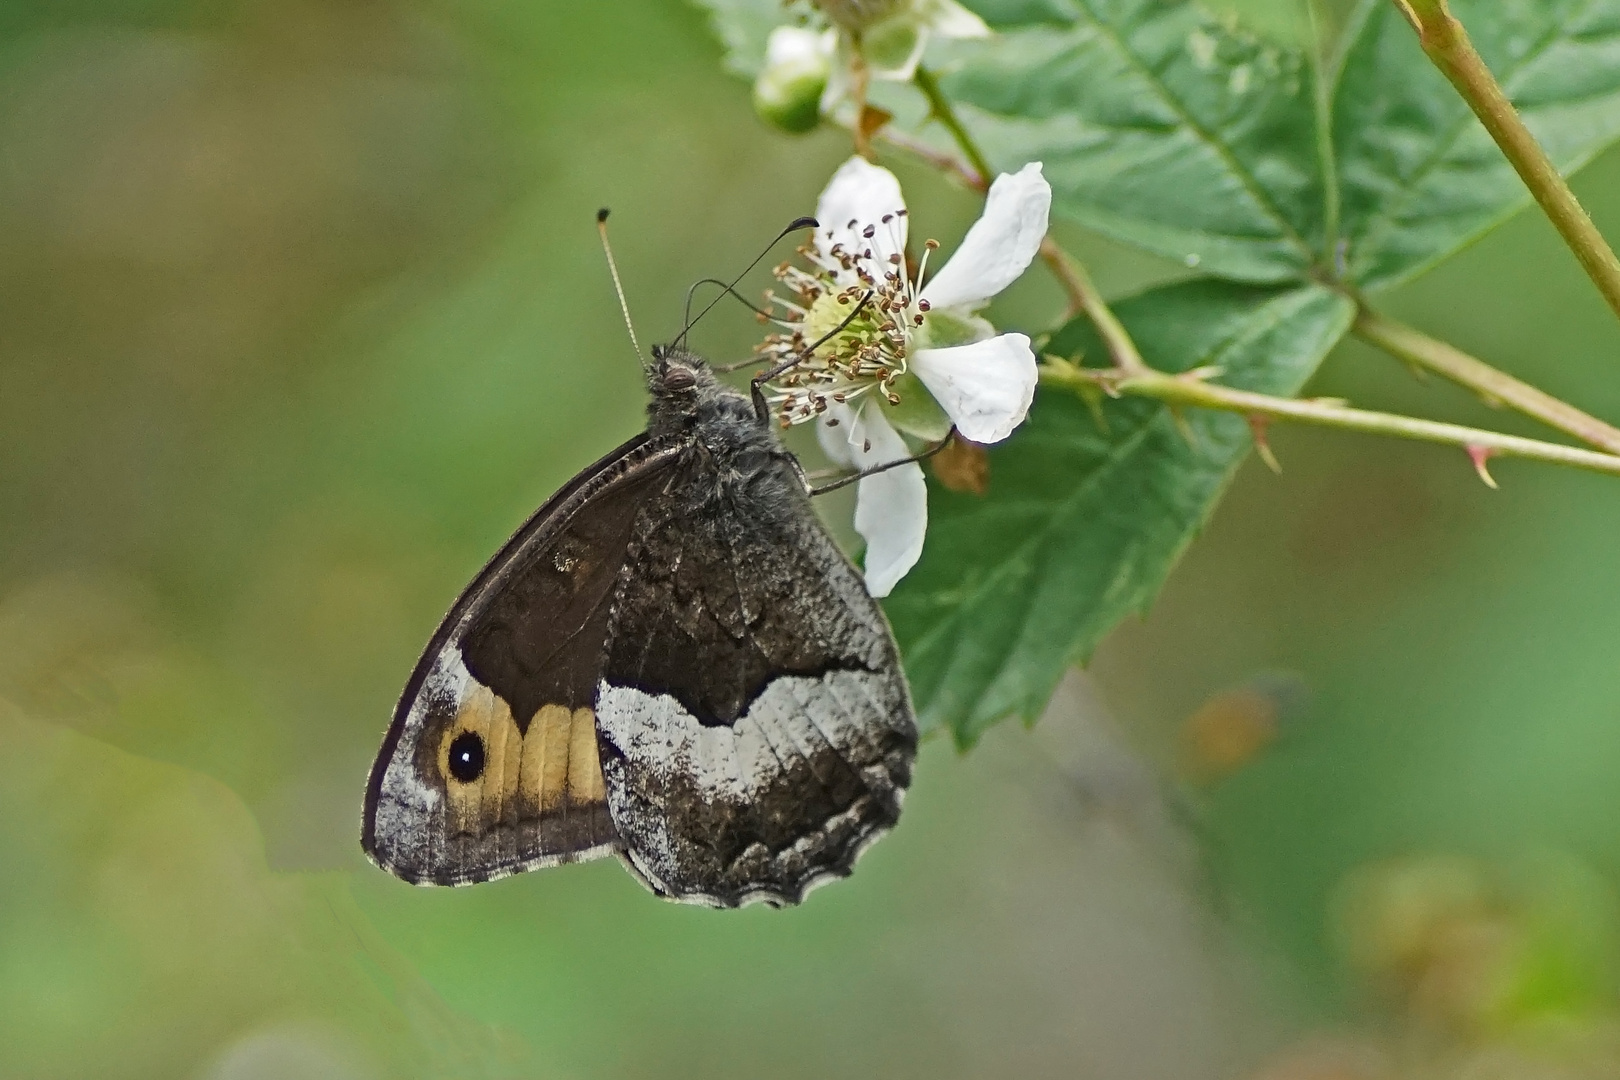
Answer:
[[[1421,442],[1437,442],[1442,445],[1466,450],[1476,460],[1477,468],[1490,457],[1526,458],[1533,461],[1549,461],[1552,465],[1568,465],[1620,476],[1620,455],[1597,453],[1578,447],[1565,447],[1555,442],[1537,439],[1520,439],[1503,436],[1481,427],[1464,427],[1461,424],[1442,424],[1432,419],[1400,416],[1396,413],[1374,413],[1349,408],[1335,402],[1281,398],[1267,393],[1251,393],[1230,387],[1205,382],[1192,376],[1170,376],[1162,371],[1145,371],[1136,376],[1121,377],[1115,371],[1077,368],[1068,361],[1047,361],[1040,372],[1042,382],[1069,390],[1097,392],[1098,389],[1115,395],[1145,397],[1166,405],[1194,405],[1213,408],[1226,413],[1239,413],[1247,418],[1288,419],[1322,427],[1338,427],[1340,431],[1359,431],[1371,436],[1395,436],[1398,439],[1418,439]]]

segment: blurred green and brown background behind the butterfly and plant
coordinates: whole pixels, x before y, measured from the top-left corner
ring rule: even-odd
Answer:
[[[640,427],[591,212],[666,338],[847,154],[718,57],[679,0],[0,6],[0,1075],[1620,1075],[1620,487],[1544,466],[1277,431],[1152,615],[1034,732],[927,745],[799,910],[363,860],[436,620]],[[949,248],[972,198],[896,170]],[[1576,189],[1620,235],[1620,155]],[[1620,416],[1536,215],[1387,303]],[[1520,429],[1366,348],[1314,392]]]

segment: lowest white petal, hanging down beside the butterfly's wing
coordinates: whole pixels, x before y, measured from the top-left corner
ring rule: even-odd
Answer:
[[[867,402],[850,426],[849,450],[855,468],[868,470],[910,457],[906,440],[889,427],[883,410]],[[928,486],[915,461],[860,481],[855,489],[855,531],[867,541],[867,591],[888,596],[922,555],[928,531]]]

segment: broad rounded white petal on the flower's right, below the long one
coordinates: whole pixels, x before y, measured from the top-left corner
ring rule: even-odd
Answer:
[[[954,348],[923,348],[910,358],[956,431],[974,442],[1001,442],[1024,423],[1035,400],[1035,353],[1022,334]]]

